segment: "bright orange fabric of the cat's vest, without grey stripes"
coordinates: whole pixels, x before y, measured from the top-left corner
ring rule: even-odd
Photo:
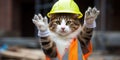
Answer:
[[[78,55],[78,40],[76,38],[74,38],[72,40],[72,43],[70,45],[70,50],[69,50],[69,54],[68,54],[68,60],[80,60],[79,59],[79,55]],[[80,47],[81,48],[81,47]],[[87,54],[82,54],[82,60],[87,60],[88,59],[88,56],[92,53],[92,44],[91,42],[88,44],[88,50],[89,50],[89,53]],[[57,52],[58,55],[57,55],[57,60],[62,60],[62,56],[60,56],[59,52]],[[52,60],[51,58],[47,57],[46,56],[46,60]]]

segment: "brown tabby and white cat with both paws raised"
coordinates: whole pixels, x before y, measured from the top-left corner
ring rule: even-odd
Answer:
[[[32,21],[39,30],[39,42],[44,53],[49,57],[56,57],[56,48],[63,56],[73,38],[79,40],[83,54],[88,53],[88,44],[96,27],[95,19],[98,15],[99,10],[89,7],[85,12],[83,25],[77,18],[78,15],[67,13],[51,15],[49,24],[47,17],[42,17],[41,14],[35,15]]]

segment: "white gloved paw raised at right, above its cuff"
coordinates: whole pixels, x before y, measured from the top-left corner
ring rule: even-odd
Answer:
[[[88,7],[88,9],[85,12],[85,22],[86,24],[93,24],[97,16],[99,15],[100,11],[97,10],[96,7],[91,8]]]

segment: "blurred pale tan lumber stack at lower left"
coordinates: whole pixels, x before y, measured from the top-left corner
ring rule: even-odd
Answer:
[[[11,47],[6,51],[2,51],[1,55],[10,59],[17,58],[18,60],[45,60],[45,55],[40,49]]]

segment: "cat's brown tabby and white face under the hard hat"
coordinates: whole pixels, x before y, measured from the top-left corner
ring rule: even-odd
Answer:
[[[79,20],[72,15],[57,15],[49,23],[49,28],[54,33],[66,36],[77,30],[80,26]]]

